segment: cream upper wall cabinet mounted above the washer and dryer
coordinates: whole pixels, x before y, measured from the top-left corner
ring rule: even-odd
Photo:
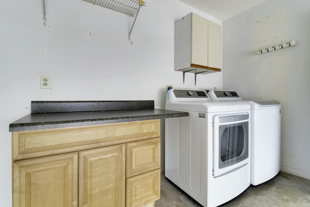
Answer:
[[[222,68],[222,28],[190,13],[175,22],[174,70],[207,74]]]

